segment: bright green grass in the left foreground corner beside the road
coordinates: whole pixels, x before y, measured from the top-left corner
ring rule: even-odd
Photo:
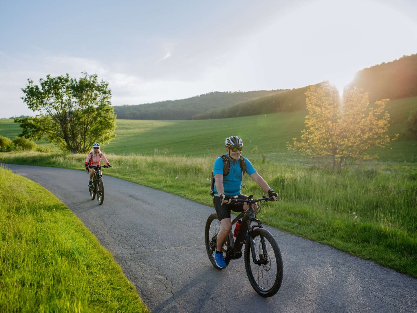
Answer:
[[[149,312],[121,268],[53,194],[0,168],[1,312]]]

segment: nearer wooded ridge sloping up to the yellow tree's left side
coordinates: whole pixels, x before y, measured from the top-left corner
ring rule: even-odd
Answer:
[[[222,109],[209,110],[193,116],[193,119],[224,119],[228,117],[250,116],[274,112],[292,112],[306,107],[306,95],[309,86],[292,89],[244,101]]]

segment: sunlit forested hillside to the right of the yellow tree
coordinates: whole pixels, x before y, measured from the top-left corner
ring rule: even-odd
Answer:
[[[417,54],[358,71],[348,88],[369,92],[370,101],[400,99],[417,95]]]

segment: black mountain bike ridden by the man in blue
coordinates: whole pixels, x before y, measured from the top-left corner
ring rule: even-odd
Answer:
[[[242,256],[242,246],[245,244],[245,267],[246,274],[252,287],[263,297],[271,297],[277,293],[282,283],[283,266],[281,252],[274,236],[269,231],[264,229],[261,220],[255,216],[260,212],[260,206],[254,212],[253,204],[256,202],[273,201],[272,197],[264,196],[261,199],[253,199],[249,196],[248,199],[232,198],[231,203],[249,204],[249,209],[241,212],[233,221],[235,224],[239,219],[242,219],[239,232],[234,241],[232,232],[223,246],[223,252],[226,254],[225,261],[228,265],[230,260],[239,259]],[[252,225],[251,225],[252,224]],[[208,217],[206,222],[205,241],[208,258],[215,268],[221,269],[216,265],[214,260],[214,253],[217,247],[217,234],[221,228],[219,218],[214,213]],[[246,232],[248,236],[245,241]]]

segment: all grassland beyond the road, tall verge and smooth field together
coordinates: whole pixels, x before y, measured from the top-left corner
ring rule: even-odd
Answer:
[[[224,153],[226,136],[238,135],[243,155],[282,197],[279,205],[265,205],[264,222],[417,277],[417,141],[405,130],[416,106],[417,97],[390,101],[389,134],[398,133],[399,139],[374,150],[379,161],[341,174],[309,167],[309,159],[286,149],[286,141],[300,137],[306,111],[217,120],[117,120],[116,138],[102,149],[113,165],[106,174],[212,206],[214,158]],[[0,135],[18,134],[12,125],[0,121]],[[254,146],[258,154],[251,152]],[[3,163],[72,169],[80,169],[84,160],[85,155],[0,153]],[[245,194],[263,194],[246,180]]]

